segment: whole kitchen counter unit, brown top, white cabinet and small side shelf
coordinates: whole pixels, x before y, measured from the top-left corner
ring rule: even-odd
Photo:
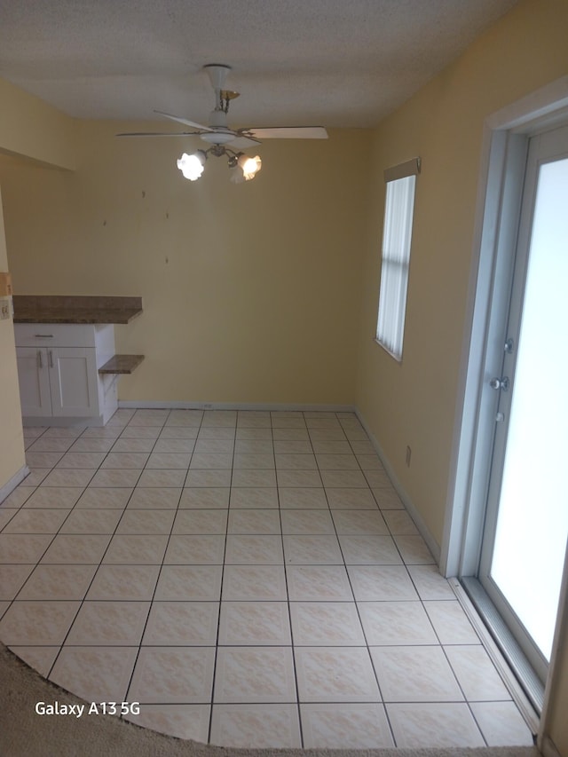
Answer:
[[[118,407],[117,378],[144,355],[117,355],[116,324],[142,297],[16,295],[14,338],[26,426],[104,426]]]

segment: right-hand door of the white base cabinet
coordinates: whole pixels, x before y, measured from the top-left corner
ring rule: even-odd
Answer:
[[[97,360],[90,347],[52,347],[47,350],[50,373],[51,414],[91,416],[99,414]]]

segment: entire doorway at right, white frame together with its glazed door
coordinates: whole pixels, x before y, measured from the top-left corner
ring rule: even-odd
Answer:
[[[563,96],[549,88],[488,124],[442,555],[538,712],[565,602],[568,535],[565,88]]]

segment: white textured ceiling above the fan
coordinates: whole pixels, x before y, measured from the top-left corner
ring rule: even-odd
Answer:
[[[517,0],[3,0],[0,76],[81,118],[374,126]]]

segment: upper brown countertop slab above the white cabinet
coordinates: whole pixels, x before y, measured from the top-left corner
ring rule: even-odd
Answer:
[[[130,323],[142,297],[14,295],[14,323]]]

